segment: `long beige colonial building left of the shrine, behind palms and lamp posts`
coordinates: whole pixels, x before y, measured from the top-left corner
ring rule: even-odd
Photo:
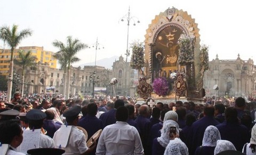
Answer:
[[[65,75],[64,71],[58,68],[52,68],[49,63],[38,62],[36,66],[37,68],[34,70],[31,68],[27,68],[25,71],[26,83],[24,84],[24,92],[38,94],[63,94],[63,76]],[[109,82],[113,77],[116,77],[116,79],[118,80],[118,83],[115,85],[116,95],[123,96],[125,91],[124,77],[126,75],[126,96],[134,96],[134,83],[136,83],[134,82],[135,72],[131,69],[129,62],[127,63],[127,71],[125,70],[125,68],[125,61],[122,56],[120,56],[119,59],[113,63],[113,71],[106,69],[102,66],[84,66],[83,68],[80,66],[71,66],[69,94],[74,95],[77,93],[81,93],[83,95],[92,95],[93,80],[90,81],[90,76],[92,75],[93,77],[93,72],[95,71],[94,81],[97,81],[97,77],[99,76],[99,81],[95,82],[94,85],[95,91],[97,89],[102,89],[105,91],[106,94],[113,96],[113,87],[109,84]],[[17,74],[21,75],[22,69],[20,66],[14,65],[14,69],[17,71]],[[66,73],[66,75],[68,74]],[[20,91],[20,85],[17,91]],[[66,90],[66,92],[67,91],[68,90]]]

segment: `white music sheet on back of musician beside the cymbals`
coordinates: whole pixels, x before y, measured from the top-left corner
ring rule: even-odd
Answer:
[[[60,146],[62,148],[66,148],[68,143],[68,138],[71,132],[72,126],[68,125],[61,125],[60,127],[60,133],[63,133],[63,136],[58,137],[57,141],[55,142],[55,145]],[[65,136],[64,136],[65,135]]]

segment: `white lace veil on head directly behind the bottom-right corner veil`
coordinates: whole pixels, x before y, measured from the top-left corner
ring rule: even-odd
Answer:
[[[202,146],[215,147],[218,140],[221,140],[218,128],[212,125],[208,126],[204,132]]]

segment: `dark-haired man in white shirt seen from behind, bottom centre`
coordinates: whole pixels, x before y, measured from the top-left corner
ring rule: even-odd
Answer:
[[[116,110],[115,124],[106,126],[99,138],[96,154],[143,154],[140,135],[134,126],[126,123],[129,111],[121,106]]]

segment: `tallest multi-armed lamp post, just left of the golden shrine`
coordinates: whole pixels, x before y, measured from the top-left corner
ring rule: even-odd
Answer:
[[[127,42],[126,42],[126,59],[125,59],[125,75],[124,75],[124,81],[125,81],[125,84],[124,84],[124,96],[126,96],[126,83],[127,83],[127,58],[130,56],[130,50],[128,49],[128,44],[129,44],[129,26],[130,26],[130,22],[132,21],[133,22],[133,25],[135,26],[136,22],[134,19],[137,19],[137,17],[135,16],[131,16],[131,13],[130,13],[130,6],[129,6],[129,10],[128,10],[128,13],[126,15],[124,15],[121,19],[121,21],[123,22],[124,20],[127,21]],[[137,23],[140,23],[140,21],[138,20]]]

